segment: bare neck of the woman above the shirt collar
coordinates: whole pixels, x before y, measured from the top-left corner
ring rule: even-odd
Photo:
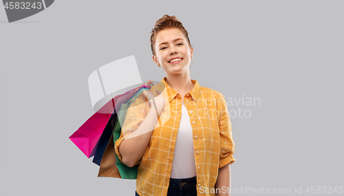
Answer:
[[[184,97],[193,89],[194,84],[191,82],[190,72],[182,74],[167,74],[166,83],[175,91]]]

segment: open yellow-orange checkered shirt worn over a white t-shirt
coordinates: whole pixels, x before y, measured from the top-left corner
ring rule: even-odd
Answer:
[[[164,89],[165,107],[160,113],[160,121],[155,125],[147,150],[135,164],[140,164],[136,178],[136,191],[140,196],[167,195],[169,188],[173,151],[182,115],[182,98],[165,80],[166,77],[160,84],[151,87],[154,94],[155,89]],[[213,89],[201,87],[197,80],[191,81],[194,87],[184,96],[184,104],[193,129],[197,195],[213,196],[215,193],[206,193],[206,188],[215,190],[219,168],[235,162],[232,126],[224,96]],[[122,133],[115,142],[120,162],[122,157],[119,147],[122,140],[139,127],[149,109],[147,99],[140,94],[127,110]]]

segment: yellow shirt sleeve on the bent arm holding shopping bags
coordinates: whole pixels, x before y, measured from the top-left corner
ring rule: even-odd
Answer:
[[[127,113],[125,114],[125,120],[122,124],[122,130],[120,131],[120,138],[115,142],[115,152],[118,160],[123,163],[122,155],[120,155],[120,144],[125,138],[138,129],[142,120],[147,116],[148,102],[144,94],[140,94],[138,98],[129,106]],[[119,123],[119,122],[118,122]],[[136,164],[140,164],[141,160],[138,160]]]

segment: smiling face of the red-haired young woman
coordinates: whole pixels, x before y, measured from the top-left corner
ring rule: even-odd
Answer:
[[[182,30],[171,28],[158,32],[155,35],[154,47],[153,61],[160,65],[167,74],[189,72],[193,48],[189,47]]]

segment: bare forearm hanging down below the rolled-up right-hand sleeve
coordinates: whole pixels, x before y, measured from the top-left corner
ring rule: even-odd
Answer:
[[[230,164],[219,168],[215,190],[217,196],[230,196]]]

